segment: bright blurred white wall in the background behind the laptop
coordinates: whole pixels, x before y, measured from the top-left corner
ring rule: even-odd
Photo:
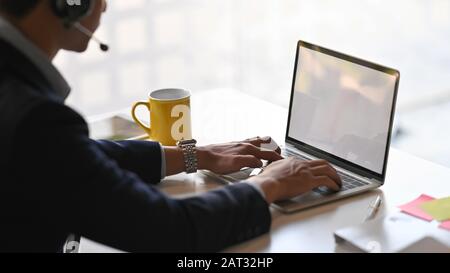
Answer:
[[[110,52],[91,44],[56,60],[73,87],[69,104],[85,115],[128,107],[162,87],[231,87],[286,106],[298,39],[399,69],[400,109],[450,91],[448,0],[109,0],[98,36]],[[450,112],[439,107],[433,111]],[[444,115],[419,116],[398,113],[408,138],[396,145],[450,165]],[[418,151],[430,140],[435,149]]]

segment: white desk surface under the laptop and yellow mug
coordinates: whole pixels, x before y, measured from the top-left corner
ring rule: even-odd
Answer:
[[[200,144],[271,135],[283,143],[287,109],[233,91],[215,90],[192,98],[193,135]],[[160,184],[173,196],[198,194],[221,184],[201,174],[177,175]],[[271,232],[233,246],[229,252],[334,252],[333,231],[360,223],[376,194],[383,195],[377,215],[422,193],[450,196],[450,169],[391,149],[386,183],[380,189],[355,197],[304,210],[281,214],[272,209]],[[449,233],[450,236],[450,233]],[[111,252],[113,249],[82,239],[81,252]]]

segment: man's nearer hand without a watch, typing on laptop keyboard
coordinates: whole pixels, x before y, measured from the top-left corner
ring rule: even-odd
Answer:
[[[267,203],[298,196],[320,186],[338,191],[341,179],[325,160],[302,161],[288,158],[274,162],[248,179],[259,184]]]

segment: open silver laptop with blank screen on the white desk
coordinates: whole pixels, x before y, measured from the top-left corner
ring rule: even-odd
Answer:
[[[325,159],[343,184],[339,192],[319,187],[273,206],[289,213],[382,186],[399,80],[395,69],[299,41],[282,155]],[[253,172],[217,177],[228,183]]]

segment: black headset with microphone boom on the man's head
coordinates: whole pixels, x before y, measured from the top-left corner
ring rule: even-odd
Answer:
[[[94,34],[79,21],[88,16],[97,0],[50,0],[53,13],[61,18],[66,28],[74,27],[100,45],[102,51],[108,51],[109,46],[102,43]]]

